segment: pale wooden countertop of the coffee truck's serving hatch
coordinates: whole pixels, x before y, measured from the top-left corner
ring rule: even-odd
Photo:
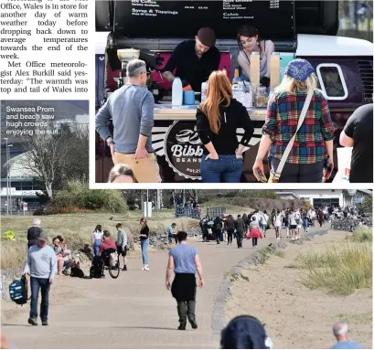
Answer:
[[[155,103],[155,120],[195,120],[198,103],[173,106],[171,102]],[[266,108],[247,108],[252,121],[264,121]]]

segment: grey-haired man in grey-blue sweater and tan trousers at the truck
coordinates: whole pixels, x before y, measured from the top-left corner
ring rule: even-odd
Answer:
[[[130,166],[139,183],[159,183],[152,147],[155,99],[145,86],[145,62],[132,59],[127,65],[127,78],[127,84],[115,90],[96,114],[96,131],[111,148],[114,164]],[[113,135],[108,127],[111,119]]]

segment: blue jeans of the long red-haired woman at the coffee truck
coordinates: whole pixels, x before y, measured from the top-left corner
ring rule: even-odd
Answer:
[[[201,158],[201,177],[203,183],[240,183],[243,158],[235,154],[219,154],[219,159]]]

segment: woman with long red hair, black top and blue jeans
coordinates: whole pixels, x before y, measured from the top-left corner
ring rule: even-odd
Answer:
[[[197,132],[204,144],[201,177],[204,183],[239,183],[242,153],[253,134],[247,109],[232,98],[230,80],[214,71],[208,80],[207,100],[197,111]],[[238,142],[237,129],[244,129]]]

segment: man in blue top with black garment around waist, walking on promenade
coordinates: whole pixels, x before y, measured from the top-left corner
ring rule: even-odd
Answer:
[[[179,316],[178,330],[186,330],[187,318],[192,328],[197,329],[196,322],[196,272],[198,272],[198,286],[204,287],[203,270],[195,247],[187,244],[187,232],[176,234],[179,244],[170,249],[166,268],[166,289],[170,290],[170,278],[174,270],[175,278],[171,292],[176,299]]]

